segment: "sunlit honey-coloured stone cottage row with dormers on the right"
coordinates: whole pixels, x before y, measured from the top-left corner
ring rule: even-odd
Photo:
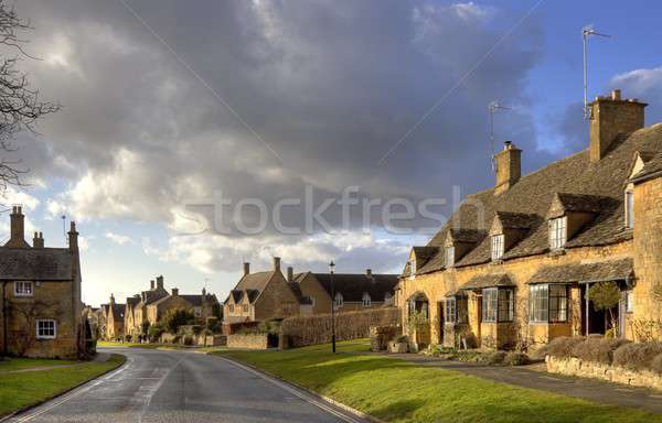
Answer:
[[[615,90],[590,104],[588,148],[528,175],[506,142],[493,187],[469,195],[414,247],[398,283],[421,344],[508,348],[604,334],[589,289],[613,282],[617,336],[662,328],[662,124]],[[649,328],[649,329],[647,329]]]

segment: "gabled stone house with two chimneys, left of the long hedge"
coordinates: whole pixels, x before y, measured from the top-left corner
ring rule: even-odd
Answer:
[[[244,263],[244,275],[223,303],[223,323],[261,322],[300,314],[309,301],[292,290],[280,271],[280,258],[274,258],[274,269],[250,273]],[[295,286],[296,289],[296,286]]]

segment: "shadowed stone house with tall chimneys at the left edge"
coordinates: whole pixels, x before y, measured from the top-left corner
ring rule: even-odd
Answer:
[[[85,348],[81,301],[81,260],[76,224],[68,247],[24,239],[20,206],[10,215],[10,239],[0,247],[0,354],[76,358]]]

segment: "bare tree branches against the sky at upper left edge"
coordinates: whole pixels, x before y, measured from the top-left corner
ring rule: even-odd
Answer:
[[[9,185],[22,185],[20,176],[28,172],[20,160],[9,159],[17,150],[12,145],[15,134],[22,131],[38,134],[38,120],[61,108],[42,101],[25,73],[17,68],[22,58],[34,59],[23,50],[28,41],[21,36],[31,30],[30,22],[19,18],[6,0],[0,0],[0,192]]]

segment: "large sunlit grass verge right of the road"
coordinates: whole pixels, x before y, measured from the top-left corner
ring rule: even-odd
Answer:
[[[386,356],[365,343],[215,352],[389,422],[662,422],[634,409],[520,388]]]

